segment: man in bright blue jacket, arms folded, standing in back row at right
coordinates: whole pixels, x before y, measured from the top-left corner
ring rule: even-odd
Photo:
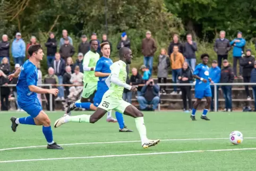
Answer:
[[[239,66],[239,77],[241,78],[242,75],[242,67],[240,65],[241,62],[241,57],[242,54],[244,53],[244,46],[246,44],[246,41],[242,38],[242,32],[238,32],[237,33],[237,38],[235,38],[234,40],[232,40],[230,42],[230,44],[232,46],[234,46],[233,48],[233,70],[234,70],[234,74],[235,74],[235,78],[237,78],[237,61],[238,61],[238,66]]]

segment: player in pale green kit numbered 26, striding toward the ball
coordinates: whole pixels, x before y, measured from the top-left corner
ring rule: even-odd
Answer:
[[[129,102],[123,100],[124,88],[136,91],[136,87],[126,84],[126,65],[131,64],[132,51],[129,48],[122,47],[119,51],[120,60],[115,62],[111,67],[111,74],[106,79],[109,89],[103,96],[98,108],[92,115],[69,116],[64,115],[57,119],[54,126],[59,127],[67,122],[86,122],[95,123],[103,117],[109,110],[116,110],[125,115],[135,118],[136,127],[139,131],[141,144],[143,148],[148,148],[158,144],[160,140],[149,140],[147,138],[146,126],[144,125],[143,114]]]

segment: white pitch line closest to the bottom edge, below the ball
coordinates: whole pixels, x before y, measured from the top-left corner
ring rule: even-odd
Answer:
[[[127,154],[127,155],[64,157],[64,158],[25,159],[25,160],[6,160],[6,161],[0,161],[0,163],[14,163],[14,162],[22,162],[22,161],[45,161],[45,160],[67,160],[67,159],[90,159],[90,158],[107,158],[107,157],[127,157],[127,156],[147,156],[147,155],[168,155],[168,154],[175,154],[175,153],[219,152],[219,151],[238,151],[238,150],[256,150],[256,148],[218,149],[218,150],[193,150],[193,151],[171,151],[171,152],[152,152],[152,153],[138,153],[138,154]]]

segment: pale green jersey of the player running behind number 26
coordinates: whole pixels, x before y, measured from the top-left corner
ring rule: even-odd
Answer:
[[[89,50],[83,57],[83,66],[88,67],[88,70],[92,67],[95,68],[98,60],[99,54]],[[97,82],[98,80],[99,78],[95,76],[95,71],[83,71],[83,83]]]

